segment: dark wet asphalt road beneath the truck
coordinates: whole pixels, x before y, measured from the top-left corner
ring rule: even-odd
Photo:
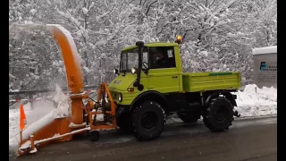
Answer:
[[[172,124],[158,140],[140,142],[119,131],[49,145],[37,154],[9,160],[196,160],[275,161],[277,160],[277,117],[234,121],[229,131],[208,131],[203,123]]]

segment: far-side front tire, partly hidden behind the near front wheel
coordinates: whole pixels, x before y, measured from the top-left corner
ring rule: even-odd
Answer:
[[[131,115],[128,113],[123,113],[117,118],[117,126],[122,131],[131,132],[132,131],[132,122]]]

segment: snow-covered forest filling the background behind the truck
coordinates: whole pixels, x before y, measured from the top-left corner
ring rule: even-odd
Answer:
[[[252,48],[277,45],[276,0],[9,0],[9,89],[66,86],[55,40],[35,25],[48,23],[71,32],[85,85],[112,80],[122,47],[138,40],[181,35],[184,72],[238,71],[243,85]]]

